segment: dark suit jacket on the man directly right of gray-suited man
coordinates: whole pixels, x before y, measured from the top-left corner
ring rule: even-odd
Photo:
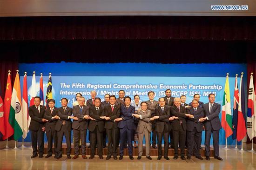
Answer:
[[[155,121],[155,131],[156,132],[169,132],[169,117],[170,117],[170,108],[166,105],[164,106],[164,110],[160,106],[155,108],[155,115],[159,116],[159,119]]]

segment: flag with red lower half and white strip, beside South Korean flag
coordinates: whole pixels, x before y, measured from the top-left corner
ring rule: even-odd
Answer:
[[[243,72],[241,73],[240,89],[238,101],[238,114],[237,114],[237,141],[241,141],[246,135],[246,122],[245,122],[245,94],[243,85]]]

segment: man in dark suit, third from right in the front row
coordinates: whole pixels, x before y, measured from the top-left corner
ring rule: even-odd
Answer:
[[[171,116],[178,117],[171,121],[171,130],[174,139],[174,159],[178,158],[178,146],[181,148],[181,159],[185,160],[185,140],[186,140],[186,108],[181,107],[181,99],[174,99],[174,106],[170,107]]]

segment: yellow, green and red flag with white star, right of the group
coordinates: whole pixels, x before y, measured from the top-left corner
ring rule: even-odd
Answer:
[[[232,135],[232,115],[229,92],[229,73],[226,76],[226,83],[222,101],[222,127],[225,130],[226,138]]]

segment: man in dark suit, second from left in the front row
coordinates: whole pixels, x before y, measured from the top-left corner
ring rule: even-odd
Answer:
[[[53,155],[53,140],[54,140],[54,158],[57,157],[57,131],[55,130],[55,125],[57,120],[59,119],[58,112],[55,105],[54,99],[48,100],[49,107],[45,109],[44,119],[48,120],[45,123],[45,132],[47,136],[47,157],[51,157]]]

